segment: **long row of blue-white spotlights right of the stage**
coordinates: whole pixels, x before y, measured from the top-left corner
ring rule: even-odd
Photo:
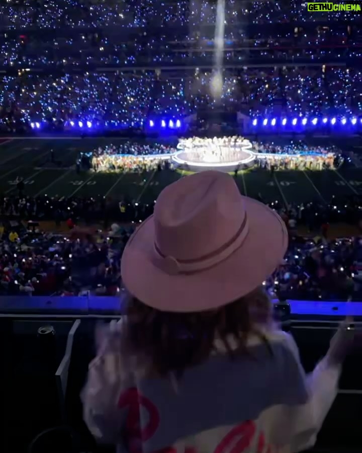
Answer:
[[[303,118],[253,118],[251,121],[251,124],[254,127],[262,126],[262,127],[275,127],[275,126],[284,126],[288,127],[290,125],[294,127],[299,127],[303,126],[303,128],[306,128],[310,125],[312,126],[356,126],[356,125],[362,125],[362,117],[356,118],[355,116],[352,117],[341,117],[341,118],[336,118],[335,116],[331,118],[318,118],[318,117],[303,117]]]

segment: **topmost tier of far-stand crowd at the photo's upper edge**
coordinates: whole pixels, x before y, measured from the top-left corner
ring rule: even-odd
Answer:
[[[36,9],[36,14],[35,13]],[[333,12],[335,20],[345,18],[345,12]],[[246,18],[246,19],[245,19]],[[92,2],[91,0],[49,0],[45,4],[26,0],[21,5],[15,0],[6,0],[0,7],[0,26],[9,28],[53,27],[142,27],[156,22],[158,25],[210,24],[216,19],[216,4],[208,0],[199,2],[147,2],[133,0],[130,3]],[[244,4],[229,0],[225,6],[225,22],[237,24],[254,22],[268,24],[275,22],[308,22],[330,19],[328,12],[310,13],[306,3],[297,0],[282,3],[262,1]],[[357,14],[351,14],[351,21],[358,21]]]

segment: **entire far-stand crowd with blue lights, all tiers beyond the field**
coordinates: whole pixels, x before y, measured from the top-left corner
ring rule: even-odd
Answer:
[[[36,11],[35,11],[36,10]],[[318,13],[318,18],[327,13]],[[344,14],[336,12],[336,15]],[[214,39],[208,25],[213,24],[216,5],[200,2],[144,2],[107,4],[88,0],[50,0],[36,4],[26,0],[21,5],[7,0],[0,6],[3,29],[84,28],[79,33],[52,36],[44,33],[15,37],[9,34],[0,42],[0,66],[16,68],[15,75],[0,78],[0,129],[43,129],[49,124],[69,129],[150,127],[182,129],[183,118],[198,109],[247,110],[253,125],[259,127],[319,127],[320,125],[359,126],[362,95],[361,73],[356,69],[318,64],[320,57],[344,58],[359,55],[358,34],[337,29],[316,28],[269,36],[260,30],[246,35],[243,27],[226,30],[225,62],[263,61],[265,58],[315,62],[315,67],[258,67],[225,70],[220,100],[210,95],[211,73],[196,69],[182,71],[122,70],[95,72],[92,65],[132,67],[162,62],[202,66],[212,61]],[[333,15],[334,19],[336,15]],[[240,21],[255,24],[311,19],[306,5],[293,1],[226,2],[227,25]],[[316,15],[313,14],[316,19]],[[188,25],[182,31],[175,25]],[[123,42],[112,34],[133,27],[136,35]],[[159,37],[142,33],[157,25],[169,25],[169,32]],[[103,30],[89,27],[102,26]],[[107,30],[107,27],[110,27]],[[166,28],[166,27],[165,27]],[[212,27],[211,27],[212,28]],[[261,27],[260,27],[261,28]],[[179,31],[181,30],[181,31]],[[182,39],[176,35],[180,33]],[[127,40],[129,41],[129,39]],[[317,45],[322,45],[316,48]],[[337,45],[337,47],[333,47]],[[294,46],[293,50],[290,47]],[[62,75],[34,74],[32,68],[60,69]],[[93,67],[87,71],[87,67]],[[69,70],[67,70],[69,69]],[[77,73],[73,73],[74,69]],[[84,71],[84,72],[82,72]],[[57,72],[60,73],[59,71]],[[265,123],[265,124],[264,124]]]

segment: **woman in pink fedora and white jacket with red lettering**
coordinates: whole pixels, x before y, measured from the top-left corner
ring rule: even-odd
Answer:
[[[306,376],[261,283],[288,236],[233,178],[166,187],[129,240],[127,317],[98,338],[82,399],[94,436],[129,453],[287,453],[312,446],[336,396],[344,324]]]

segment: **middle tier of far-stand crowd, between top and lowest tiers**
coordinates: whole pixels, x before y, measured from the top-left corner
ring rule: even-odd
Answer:
[[[291,33],[270,38],[265,32],[245,35],[244,32],[226,32],[224,60],[226,62],[245,62],[280,60],[317,62],[321,58],[341,59],[358,56],[360,43],[348,39],[346,32],[320,32],[314,30],[305,35]],[[229,35],[230,36],[229,36]],[[32,68],[39,66],[77,68],[86,65],[114,64],[140,66],[147,64],[208,63],[212,60],[214,38],[212,32],[203,34],[177,31],[152,36],[139,35],[132,40],[125,37],[115,39],[109,31],[79,32],[72,36],[8,36],[0,43],[0,65],[9,68]],[[323,39],[321,38],[323,36]],[[130,42],[128,42],[130,41]],[[321,45],[320,47],[316,47]],[[291,47],[293,48],[291,49]],[[337,46],[337,47],[335,47]],[[359,52],[359,53],[358,53]]]

